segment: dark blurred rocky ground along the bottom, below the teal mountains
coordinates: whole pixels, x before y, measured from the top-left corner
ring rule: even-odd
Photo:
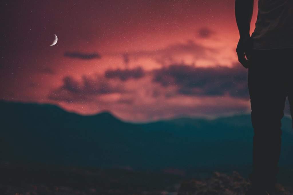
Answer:
[[[249,181],[238,172],[205,178],[133,170],[99,170],[2,163],[0,195],[244,195]],[[293,195],[276,185],[272,195]]]

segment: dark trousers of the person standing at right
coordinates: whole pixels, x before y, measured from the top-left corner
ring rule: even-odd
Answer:
[[[293,48],[254,50],[248,66],[248,89],[251,102],[254,186],[277,182],[281,151],[281,119],[288,96],[293,111]],[[293,124],[292,124],[293,127]]]

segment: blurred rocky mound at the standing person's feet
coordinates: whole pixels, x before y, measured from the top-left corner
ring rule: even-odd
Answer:
[[[248,184],[250,182],[238,172],[234,171],[231,175],[214,172],[213,177],[201,181],[182,181],[178,195],[244,195]],[[272,195],[289,194],[293,194],[292,188],[277,184]]]

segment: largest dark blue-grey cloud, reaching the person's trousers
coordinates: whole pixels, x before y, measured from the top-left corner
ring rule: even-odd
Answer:
[[[222,96],[249,99],[247,71],[241,65],[233,68],[219,66],[211,68],[173,64],[154,70],[153,82],[163,87],[177,86],[179,94]]]

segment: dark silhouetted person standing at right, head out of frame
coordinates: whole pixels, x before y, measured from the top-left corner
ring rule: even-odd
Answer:
[[[248,68],[254,130],[253,170],[246,195],[268,195],[277,183],[286,97],[291,118],[293,115],[293,0],[259,0],[250,36],[253,4],[253,0],[235,1],[240,35],[236,53],[239,62]]]

